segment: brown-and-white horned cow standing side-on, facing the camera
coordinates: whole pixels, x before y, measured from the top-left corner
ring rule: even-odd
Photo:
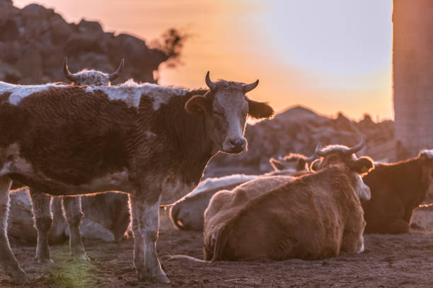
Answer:
[[[0,83],[0,260],[14,282],[28,282],[8,244],[11,181],[33,193],[129,193],[134,266],[140,280],[170,282],[156,253],[158,208],[197,186],[217,152],[247,149],[248,115],[269,118],[258,85],[206,76],[209,90],[132,80],[118,86]],[[66,195],[65,195],[66,194]]]

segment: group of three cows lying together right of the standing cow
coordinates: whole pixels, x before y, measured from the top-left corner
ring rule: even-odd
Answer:
[[[270,176],[275,171],[207,179],[171,207],[171,220],[179,229],[203,231],[205,260],[320,259],[340,250],[362,252],[364,232],[409,232],[412,213],[433,184],[433,150],[374,166],[368,157],[355,157],[363,145],[364,139],[354,148],[318,146],[320,158],[311,162],[309,157],[309,169],[306,157],[297,155],[303,164],[297,161],[296,172],[271,159],[285,176]]]

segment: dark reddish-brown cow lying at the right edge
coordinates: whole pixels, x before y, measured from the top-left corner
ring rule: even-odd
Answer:
[[[364,176],[371,200],[362,203],[366,233],[408,233],[413,211],[432,188],[433,150],[392,164],[381,163]]]

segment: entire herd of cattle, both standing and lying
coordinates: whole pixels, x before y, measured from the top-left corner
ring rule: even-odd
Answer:
[[[82,236],[130,232],[139,280],[168,283],[156,253],[160,205],[175,227],[204,236],[203,260],[165,258],[312,260],[362,253],[364,233],[409,232],[430,191],[433,150],[374,163],[355,155],[364,136],[351,148],[318,143],[310,157],[271,158],[275,171],[263,175],[200,182],[218,152],[247,150],[248,116],[275,114],[246,95],[258,80],[214,82],[208,72],[207,89],[110,85],[123,65],[71,73],[65,58],[70,85],[0,82],[0,263],[16,284],[29,279],[8,236],[35,242],[37,261],[51,263],[49,244],[69,237],[74,258],[88,260]]]

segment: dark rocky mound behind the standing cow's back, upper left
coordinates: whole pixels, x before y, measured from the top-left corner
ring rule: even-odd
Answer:
[[[105,32],[100,23],[81,20],[67,23],[52,9],[30,4],[22,9],[0,0],[0,80],[43,84],[64,80],[62,64],[69,57],[74,71],[96,68],[115,71],[120,59],[125,69],[119,81],[134,78],[154,83],[154,71],[171,55],[149,49],[146,42],[127,34]],[[11,73],[13,71],[13,73]]]

